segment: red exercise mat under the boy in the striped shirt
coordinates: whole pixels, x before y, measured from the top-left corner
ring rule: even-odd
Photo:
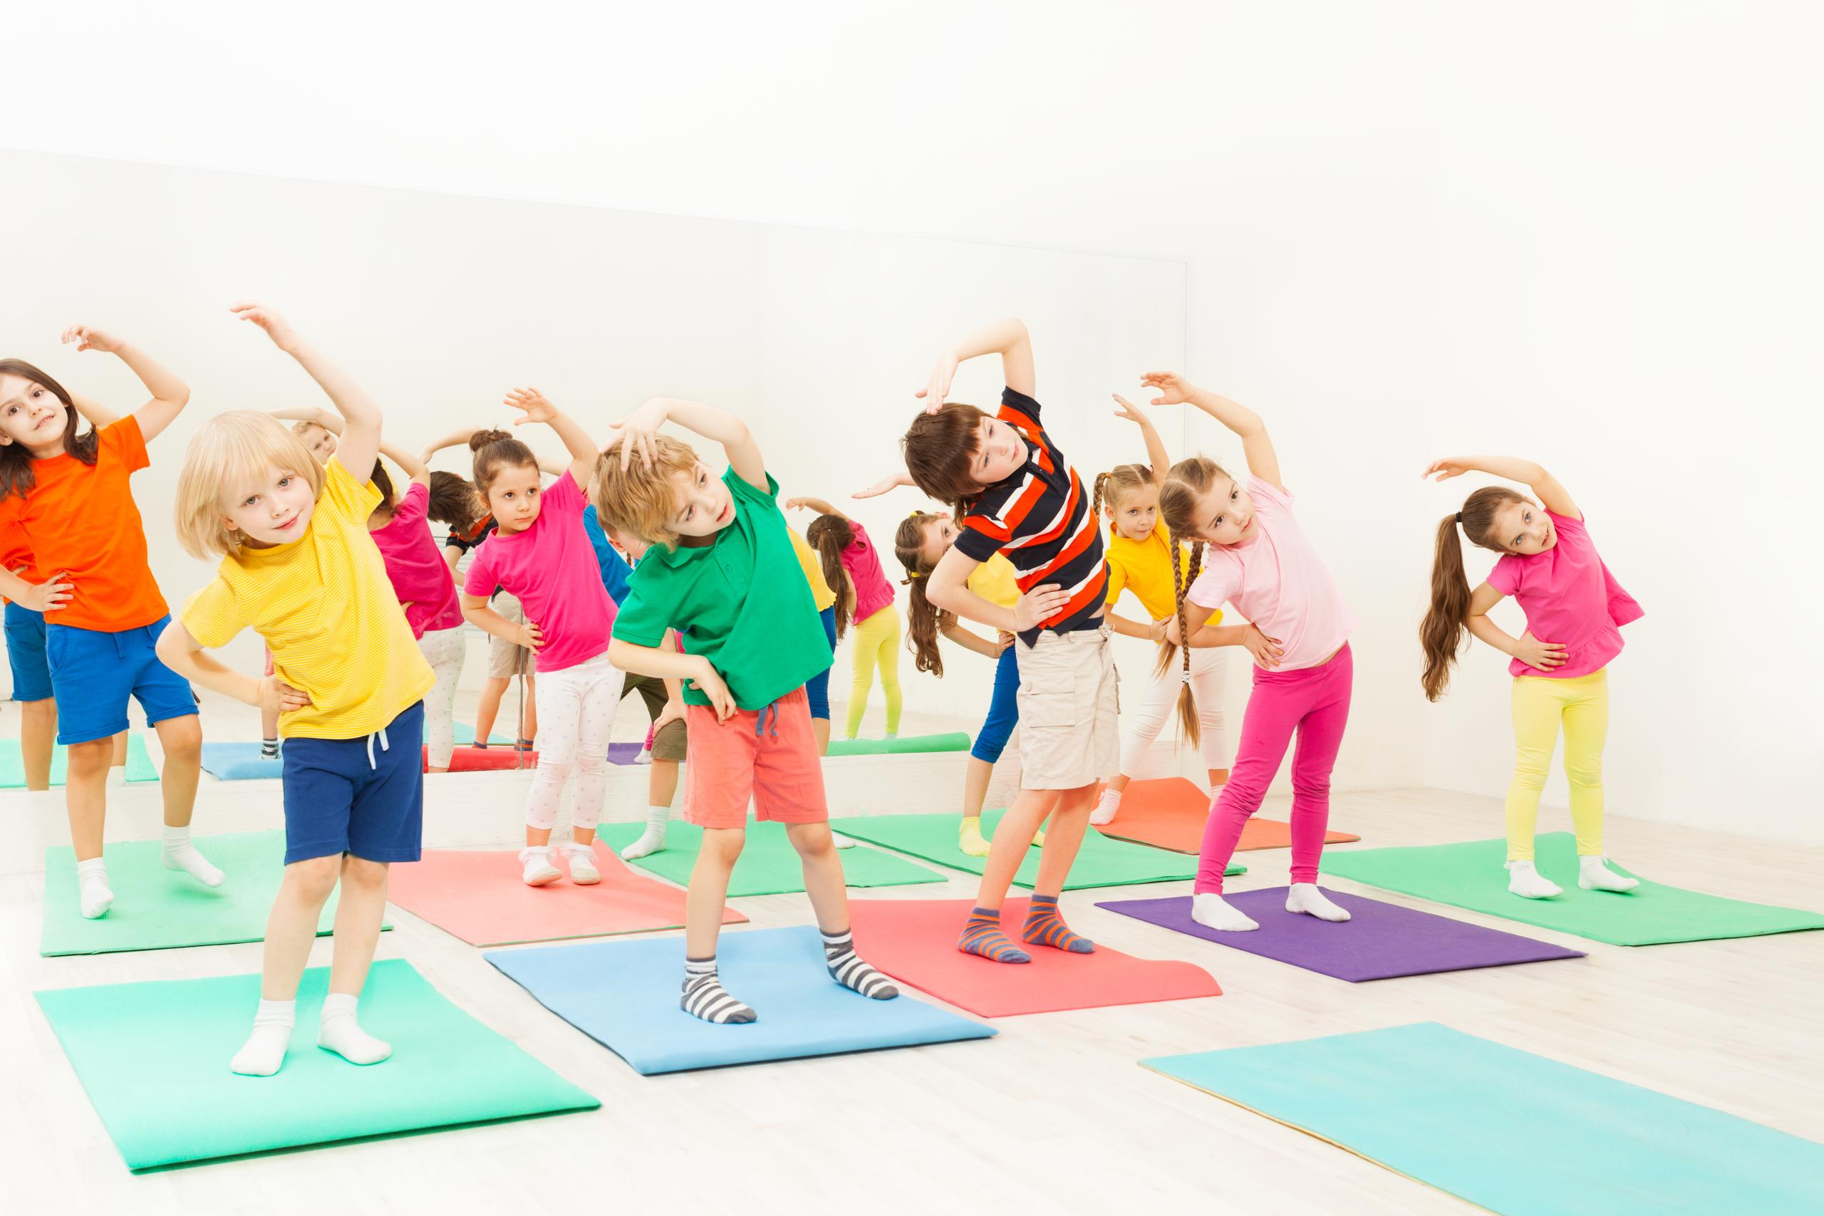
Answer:
[[[1025,946],[1031,963],[992,963],[963,953],[956,939],[972,902],[852,899],[848,917],[855,928],[855,948],[894,979],[981,1017],[1222,995],[1200,966],[1136,959],[1109,946],[1096,946],[1094,953]],[[1025,899],[1009,899],[1001,906],[1009,937],[1018,939],[1025,910]]]

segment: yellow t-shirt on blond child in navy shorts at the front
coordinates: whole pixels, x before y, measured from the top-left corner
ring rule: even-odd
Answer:
[[[436,684],[367,532],[378,503],[379,490],[332,456],[305,534],[272,549],[243,545],[184,605],[184,629],[197,642],[215,649],[252,627],[272,651],[274,673],[310,693],[310,707],[279,715],[286,738],[372,735]]]

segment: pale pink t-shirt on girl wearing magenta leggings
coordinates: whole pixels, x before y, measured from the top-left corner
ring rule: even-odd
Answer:
[[[1277,671],[1315,667],[1348,642],[1355,614],[1293,518],[1291,494],[1260,478],[1248,478],[1248,492],[1259,532],[1240,545],[1204,545],[1204,572],[1186,594],[1207,609],[1233,603],[1260,633],[1279,638]]]

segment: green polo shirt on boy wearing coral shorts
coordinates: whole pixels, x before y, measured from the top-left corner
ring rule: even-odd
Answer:
[[[677,629],[684,649],[710,660],[737,706],[764,709],[830,667],[830,638],[786,536],[779,483],[766,474],[762,494],[730,469],[722,485],[735,518],[713,545],[653,545],[627,580],[615,636],[657,647],[668,627]],[[710,704],[689,684],[684,700]]]

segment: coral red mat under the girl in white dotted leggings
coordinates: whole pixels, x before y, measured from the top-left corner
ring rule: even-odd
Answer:
[[[602,871],[595,886],[571,882],[562,850],[558,853],[553,864],[565,877],[547,886],[525,886],[516,850],[425,850],[420,860],[394,862],[387,899],[471,946],[684,926],[684,891],[635,873],[604,844],[595,846],[595,864]],[[731,908],[722,912],[722,924],[746,919]],[[684,943],[679,943],[680,964],[682,959]]]

